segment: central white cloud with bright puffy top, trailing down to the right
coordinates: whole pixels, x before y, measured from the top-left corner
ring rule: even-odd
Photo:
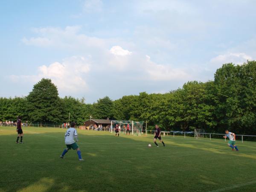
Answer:
[[[131,51],[123,49],[120,46],[113,46],[110,49],[111,55],[109,64],[115,70],[122,72],[132,72],[136,70],[139,75],[134,75],[133,79],[144,79],[147,81],[171,81],[171,80],[187,80],[191,75],[186,70],[175,68],[172,65],[157,64],[151,61],[150,56],[132,54]],[[111,69],[113,70],[113,69]]]

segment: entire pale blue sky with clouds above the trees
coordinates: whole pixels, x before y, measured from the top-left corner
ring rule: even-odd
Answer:
[[[166,93],[256,58],[254,0],[0,2],[0,96],[50,78],[63,96]]]

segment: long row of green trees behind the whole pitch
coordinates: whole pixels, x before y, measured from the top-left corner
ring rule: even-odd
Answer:
[[[140,93],[112,101],[108,96],[93,104],[71,96],[60,98],[50,79],[41,79],[26,97],[0,98],[0,120],[37,123],[67,122],[79,125],[93,119],[148,121],[163,130],[210,132],[230,129],[236,134],[256,133],[256,61],[224,64],[213,81],[189,81],[169,93]]]

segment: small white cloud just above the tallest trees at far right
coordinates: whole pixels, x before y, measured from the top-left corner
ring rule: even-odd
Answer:
[[[221,66],[225,63],[243,64],[247,60],[252,60],[252,57],[244,52],[227,52],[212,58],[210,63]]]

